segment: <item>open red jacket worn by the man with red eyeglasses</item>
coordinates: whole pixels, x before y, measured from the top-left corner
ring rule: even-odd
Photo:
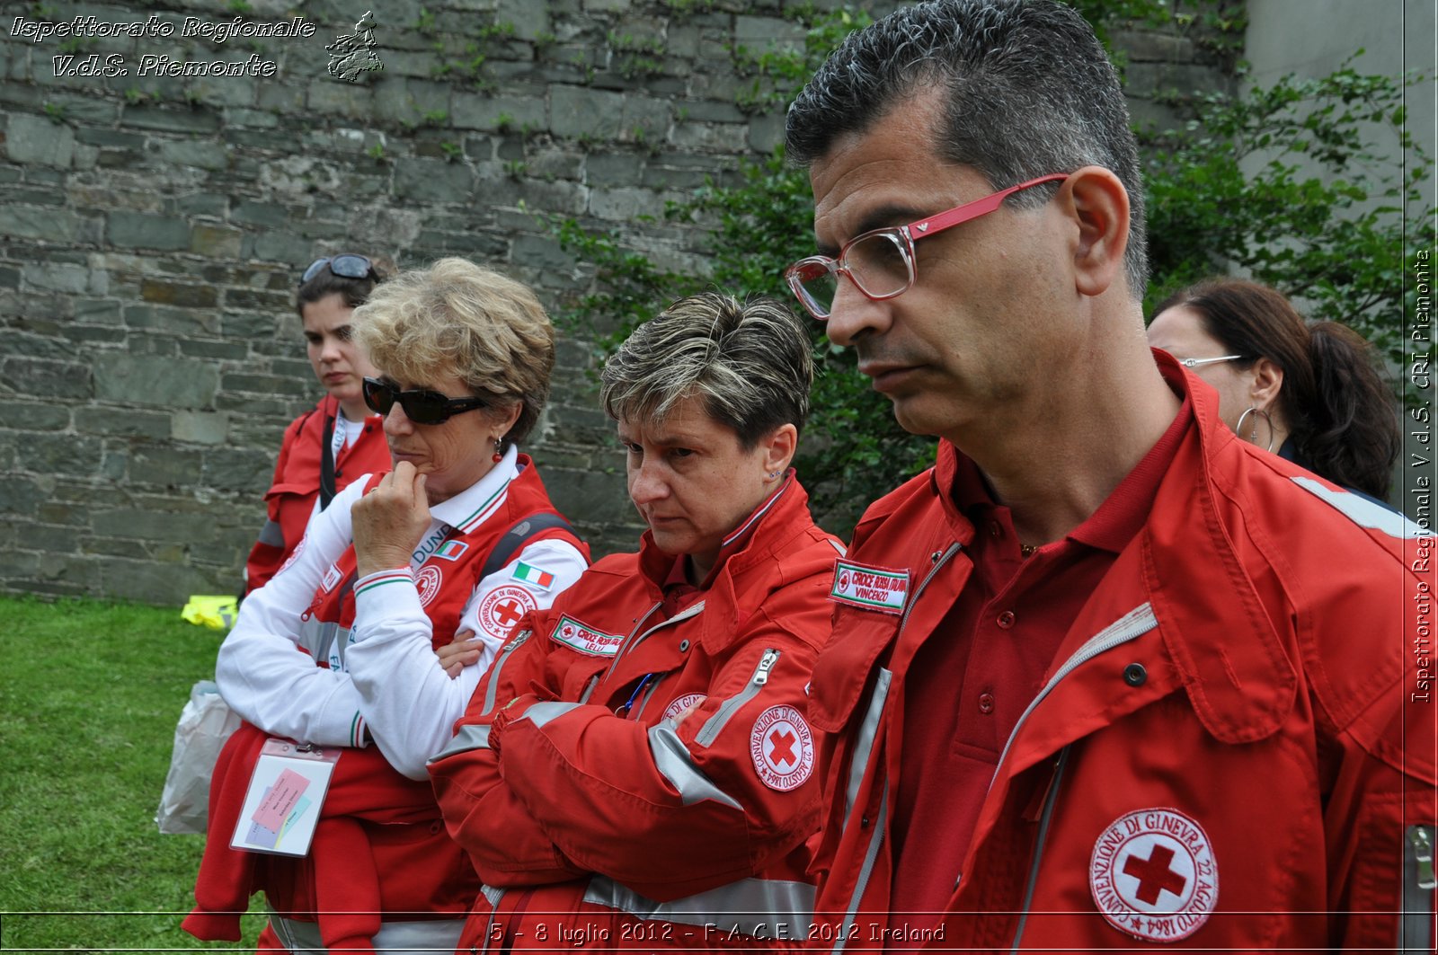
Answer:
[[[1238,440],[1208,385],[1159,362],[1195,426],[1014,729],[917,941],[1391,951],[1403,931],[1431,951],[1435,538]],[[922,772],[902,748],[907,667],[946,639],[972,570],[956,454],[942,444],[861,519],[848,559],[907,572],[903,614],[840,607],[814,670],[810,715],[833,734],[815,933],[833,951],[916,942],[889,912],[886,834],[900,774]]]

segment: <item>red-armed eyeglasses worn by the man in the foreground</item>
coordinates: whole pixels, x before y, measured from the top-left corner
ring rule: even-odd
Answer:
[[[928,239],[945,229],[986,216],[1002,206],[1004,200],[1014,193],[1066,178],[1068,178],[1067,173],[1040,175],[928,219],[912,221],[907,226],[873,229],[844,243],[837,257],[810,256],[800,259],[784,270],[784,280],[804,311],[818,321],[830,316],[834,295],[838,292],[840,275],[847,275],[854,288],[870,301],[881,302],[896,298],[912,289],[919,278],[913,260],[913,243],[919,239]]]

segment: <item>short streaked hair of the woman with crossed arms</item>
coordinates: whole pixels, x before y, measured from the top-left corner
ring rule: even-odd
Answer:
[[[749,449],[781,424],[804,426],[811,349],[782,302],[702,292],[634,329],[604,364],[600,398],[614,420],[661,421],[679,401],[699,397]]]

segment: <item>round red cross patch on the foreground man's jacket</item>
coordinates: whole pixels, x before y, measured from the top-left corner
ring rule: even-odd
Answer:
[[[1103,918],[1149,942],[1192,935],[1218,903],[1208,833],[1178,810],[1120,815],[1093,846],[1089,887]]]

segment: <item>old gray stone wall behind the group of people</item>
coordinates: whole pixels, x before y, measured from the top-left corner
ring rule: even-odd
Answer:
[[[703,233],[664,223],[664,203],[774,148],[782,118],[739,108],[754,78],[733,49],[804,36],[789,0],[397,0],[374,4],[384,69],[342,82],[325,45],[364,6],[7,7],[0,591],[177,603],[237,588],[279,436],[318,396],[292,308],[318,255],[467,256],[552,306],[591,270],[548,214],[702,269]],[[296,12],[312,35],[219,42],[236,19]],[[88,16],[147,33],[39,35]],[[1191,69],[1191,49],[1149,46],[1129,69],[1150,65],[1152,86]],[[164,75],[214,60],[247,75]],[[638,528],[592,351],[562,342],[528,450],[608,552]]]

